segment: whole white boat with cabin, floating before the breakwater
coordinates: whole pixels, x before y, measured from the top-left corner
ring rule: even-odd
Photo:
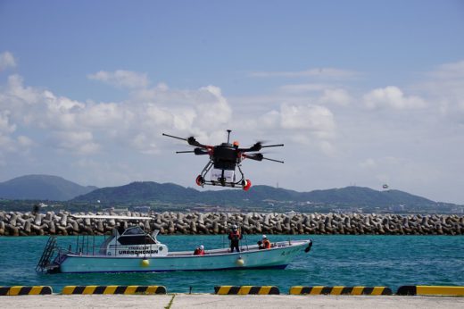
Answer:
[[[76,250],[56,246],[48,240],[37,264],[46,272],[142,272],[142,271],[213,271],[236,269],[284,269],[296,255],[311,250],[311,239],[288,240],[271,244],[270,249],[257,245],[241,246],[240,252],[228,248],[206,250],[204,255],[192,251],[169,252],[156,239],[158,231],[148,234],[140,227],[113,230],[110,238],[96,250],[93,243],[80,237]]]

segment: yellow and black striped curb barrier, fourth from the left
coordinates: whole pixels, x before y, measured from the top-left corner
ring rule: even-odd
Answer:
[[[392,295],[387,287],[292,287],[290,295]]]

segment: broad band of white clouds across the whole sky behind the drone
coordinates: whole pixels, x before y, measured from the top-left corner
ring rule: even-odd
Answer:
[[[456,68],[459,67],[458,64]],[[435,102],[448,106],[448,113],[456,112],[459,106],[464,108],[464,104],[459,104],[460,97],[464,97],[460,96],[460,88],[464,87],[460,87],[460,74],[456,70],[444,69],[453,72],[447,75],[449,78],[442,74],[443,78],[429,77],[429,81],[438,80],[439,85],[452,90],[446,94],[436,87]],[[311,71],[306,71],[306,75],[284,75],[311,74],[318,76]],[[244,146],[261,139],[286,144],[273,151],[275,154],[269,154],[285,160],[283,166],[246,163],[245,175],[257,180],[256,183],[275,181],[269,175],[276,174],[280,183],[286,181],[286,188],[362,183],[357,177],[371,183],[381,180],[380,183],[390,184],[391,179],[394,186],[400,181],[399,175],[403,183],[415,177],[411,176],[413,172],[424,175],[426,172],[420,168],[427,170],[430,163],[427,157],[441,158],[446,151],[442,150],[443,145],[456,146],[460,140],[459,130],[443,129],[443,123],[436,121],[439,115],[431,107],[434,101],[429,96],[430,88],[413,89],[415,96],[409,95],[410,88],[409,91],[377,88],[355,97],[352,95],[355,90],[339,82],[302,83],[284,85],[263,96],[229,99],[220,88],[211,85],[195,89],[170,88],[164,83],[148,86],[145,77],[146,83],[141,83],[144,88],[137,88],[134,83],[121,81],[126,80],[122,76],[117,81],[116,74],[98,78],[128,88],[128,98],[120,102],[82,102],[58,96],[53,90],[28,87],[21,76],[10,76],[0,88],[0,164],[9,166],[17,154],[34,147],[37,151],[29,154],[40,164],[46,160],[38,155],[61,158],[61,163],[79,162],[70,163],[70,167],[81,173],[81,179],[88,170],[93,171],[87,180],[82,180],[89,184],[121,185],[145,179],[191,185],[205,158],[173,157],[174,151],[188,148],[181,141],[162,138],[161,133],[195,135],[205,144],[216,145],[227,137],[225,129],[233,129],[232,138]],[[370,108],[384,108],[387,112],[427,108],[420,113],[414,110],[417,117],[410,117],[410,113],[373,115],[371,110],[352,102],[370,104]],[[350,104],[349,108],[346,104]],[[424,119],[427,123],[431,119],[434,125],[424,126]],[[443,136],[452,138],[454,143],[435,142]],[[446,158],[448,153],[453,152],[447,152]],[[389,155],[405,159],[394,163],[389,161]],[[360,162],[360,158],[368,159]],[[404,165],[415,161],[420,161],[418,168],[402,172]],[[459,163],[459,158],[456,162]],[[54,165],[62,166],[61,163]],[[305,171],[323,177],[308,180],[302,176]],[[448,177],[446,172],[443,175],[435,181]]]

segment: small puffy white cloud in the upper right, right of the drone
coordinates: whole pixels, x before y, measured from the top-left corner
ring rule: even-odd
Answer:
[[[393,108],[395,110],[420,109],[426,102],[418,96],[404,96],[400,88],[388,86],[370,91],[364,97],[364,104],[369,109]]]

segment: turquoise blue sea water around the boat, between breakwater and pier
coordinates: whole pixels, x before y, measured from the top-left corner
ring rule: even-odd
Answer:
[[[255,244],[248,235],[243,245]],[[460,236],[289,236],[271,241],[311,238],[309,254],[285,270],[174,271],[161,273],[37,274],[35,268],[46,237],[0,238],[0,286],[163,285],[168,292],[212,293],[218,285],[274,285],[281,293],[292,286],[464,285],[464,238]],[[102,240],[103,238],[99,238]],[[170,251],[227,246],[223,236],[159,236]],[[76,238],[60,237],[61,246]]]

